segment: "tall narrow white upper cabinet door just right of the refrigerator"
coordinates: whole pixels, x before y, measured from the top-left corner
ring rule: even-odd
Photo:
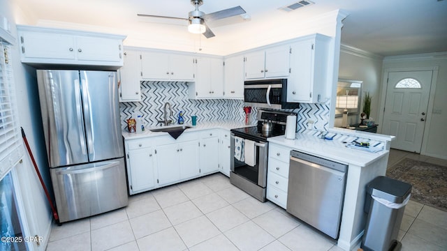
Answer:
[[[140,52],[124,52],[124,66],[119,68],[119,101],[141,101]]]

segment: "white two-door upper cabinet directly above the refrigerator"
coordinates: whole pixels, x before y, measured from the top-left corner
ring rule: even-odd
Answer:
[[[17,25],[22,63],[122,66],[126,36]]]

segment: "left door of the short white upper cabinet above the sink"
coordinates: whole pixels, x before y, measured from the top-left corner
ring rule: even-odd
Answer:
[[[161,52],[142,52],[142,78],[164,80],[170,79],[169,55]]]

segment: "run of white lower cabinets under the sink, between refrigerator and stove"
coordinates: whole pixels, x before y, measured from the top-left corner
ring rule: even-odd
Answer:
[[[130,195],[216,172],[230,176],[229,130],[126,139],[125,146]]]

